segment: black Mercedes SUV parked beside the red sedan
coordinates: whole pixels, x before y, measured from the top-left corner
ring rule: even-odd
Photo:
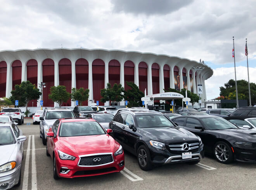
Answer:
[[[176,127],[161,113],[121,111],[109,123],[109,128],[111,136],[137,156],[140,168],[145,171],[157,164],[197,164],[204,157],[200,137]]]

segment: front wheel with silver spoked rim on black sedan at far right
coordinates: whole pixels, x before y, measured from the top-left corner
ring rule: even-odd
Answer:
[[[223,141],[216,142],[213,148],[214,157],[222,164],[229,164],[234,161],[234,154],[229,144]]]

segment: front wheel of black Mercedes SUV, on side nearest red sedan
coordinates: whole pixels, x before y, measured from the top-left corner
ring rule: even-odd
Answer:
[[[145,145],[141,145],[137,150],[137,161],[140,168],[144,171],[152,169],[152,164],[150,162],[149,150]]]

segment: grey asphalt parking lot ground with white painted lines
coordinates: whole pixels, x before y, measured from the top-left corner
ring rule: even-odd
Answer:
[[[206,156],[199,164],[169,164],[143,171],[135,156],[125,151],[120,173],[84,178],[53,178],[52,159],[46,156],[39,125],[25,119],[18,126],[24,143],[21,186],[14,189],[255,189],[256,163],[221,164]]]

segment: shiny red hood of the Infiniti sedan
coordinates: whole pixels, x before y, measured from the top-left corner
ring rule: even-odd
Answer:
[[[85,152],[111,151],[118,143],[110,135],[90,135],[80,137],[59,137],[62,149],[77,154]]]

